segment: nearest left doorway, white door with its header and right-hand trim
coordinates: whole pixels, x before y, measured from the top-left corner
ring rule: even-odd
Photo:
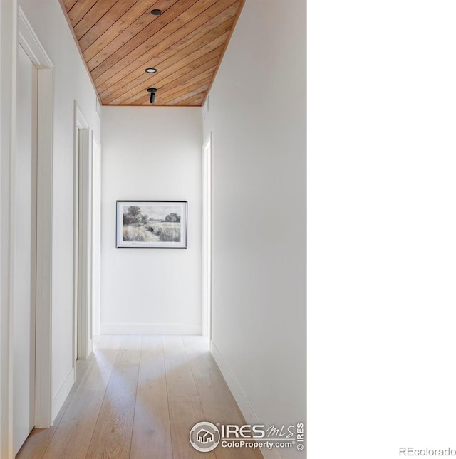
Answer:
[[[20,8],[17,18],[9,236],[12,423],[8,443],[14,454],[33,427],[48,427],[52,421],[53,64]]]

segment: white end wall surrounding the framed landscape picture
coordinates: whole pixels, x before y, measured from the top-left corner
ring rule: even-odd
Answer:
[[[195,107],[103,107],[102,333],[199,334],[202,122]],[[188,201],[187,249],[116,249],[115,201]]]

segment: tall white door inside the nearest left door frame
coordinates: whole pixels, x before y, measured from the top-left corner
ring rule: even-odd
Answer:
[[[14,154],[13,374],[14,453],[35,425],[36,366],[36,143],[38,69],[17,48],[16,152]]]

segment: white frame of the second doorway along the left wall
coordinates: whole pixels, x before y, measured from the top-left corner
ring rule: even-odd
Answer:
[[[74,119],[73,366],[92,352],[90,130],[76,101]]]

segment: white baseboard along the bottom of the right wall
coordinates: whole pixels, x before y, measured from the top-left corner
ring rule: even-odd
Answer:
[[[247,397],[242,391],[241,386],[239,386],[234,374],[229,369],[227,361],[224,359],[222,354],[220,354],[219,349],[211,341],[211,354],[214,357],[215,363],[219,366],[220,371],[222,372],[222,376],[224,380],[227,382],[229,390],[232,392],[234,396],[234,400],[236,400],[239,409],[241,410],[242,416],[244,416],[247,424],[261,424],[257,415],[254,413],[252,406],[250,405]],[[260,448],[261,453],[263,454],[264,459],[280,459],[280,455],[277,450],[269,450],[267,448]]]

